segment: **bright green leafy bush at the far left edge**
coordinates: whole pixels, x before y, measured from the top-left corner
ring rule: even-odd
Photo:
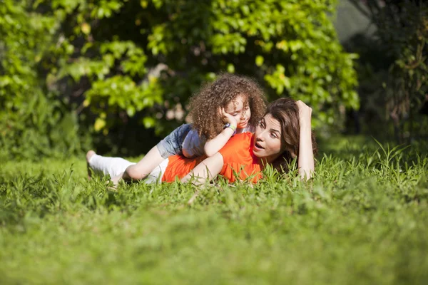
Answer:
[[[46,91],[39,71],[58,24],[29,1],[0,6],[0,159],[66,156],[81,148],[77,118]]]

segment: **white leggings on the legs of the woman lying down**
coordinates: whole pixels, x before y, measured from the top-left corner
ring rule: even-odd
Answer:
[[[135,165],[136,162],[124,160],[121,157],[105,157],[102,155],[92,155],[89,160],[89,167],[94,172],[101,172],[103,175],[110,175],[110,177],[116,177],[125,172],[126,168],[130,165]],[[165,173],[166,167],[168,166],[168,158],[163,160],[150,174],[146,177],[144,182],[156,183],[161,182],[163,173]]]

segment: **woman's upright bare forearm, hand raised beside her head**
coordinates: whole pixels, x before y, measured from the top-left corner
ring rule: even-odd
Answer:
[[[302,179],[309,180],[312,177],[312,172],[315,170],[314,153],[312,150],[312,130],[311,117],[312,108],[307,106],[302,101],[298,100],[299,107],[299,122],[300,122],[300,140],[299,140],[299,158],[297,165],[299,167],[299,175]]]

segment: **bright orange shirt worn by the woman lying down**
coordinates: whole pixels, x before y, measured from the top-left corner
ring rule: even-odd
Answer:
[[[261,163],[258,157],[253,155],[253,133],[241,133],[230,138],[228,143],[219,151],[223,156],[223,168],[220,175],[230,182],[236,178],[245,180],[252,177],[251,182],[257,182],[261,174]],[[163,174],[163,182],[173,182],[176,178],[181,179],[193,170],[196,165],[206,157],[185,158],[180,155],[168,157],[168,166]]]

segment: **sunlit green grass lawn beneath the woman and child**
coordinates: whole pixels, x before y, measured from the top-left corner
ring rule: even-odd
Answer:
[[[310,183],[269,174],[197,197],[108,190],[83,158],[6,162],[0,284],[427,284],[428,146],[382,147],[335,140]]]

